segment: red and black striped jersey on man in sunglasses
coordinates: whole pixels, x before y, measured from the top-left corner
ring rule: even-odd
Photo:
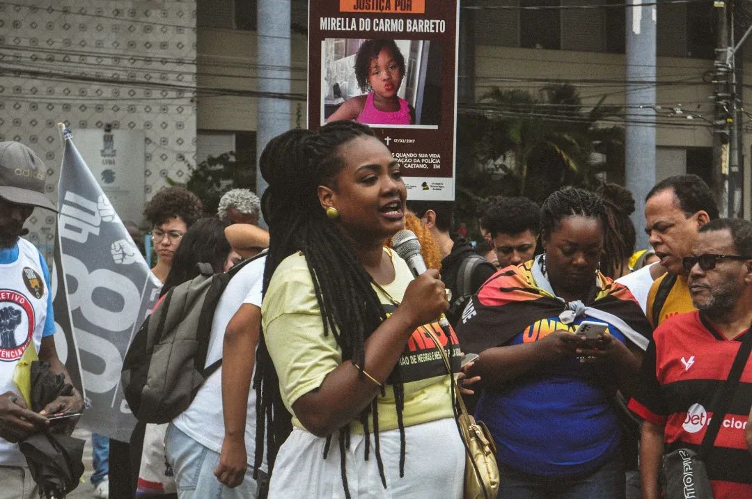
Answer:
[[[664,427],[666,452],[699,449],[746,334],[750,331],[727,340],[697,311],[672,317],[656,328],[645,352],[640,389],[629,409]],[[708,457],[715,499],[752,497],[752,455],[744,440],[750,407],[752,359],[744,367]]]

